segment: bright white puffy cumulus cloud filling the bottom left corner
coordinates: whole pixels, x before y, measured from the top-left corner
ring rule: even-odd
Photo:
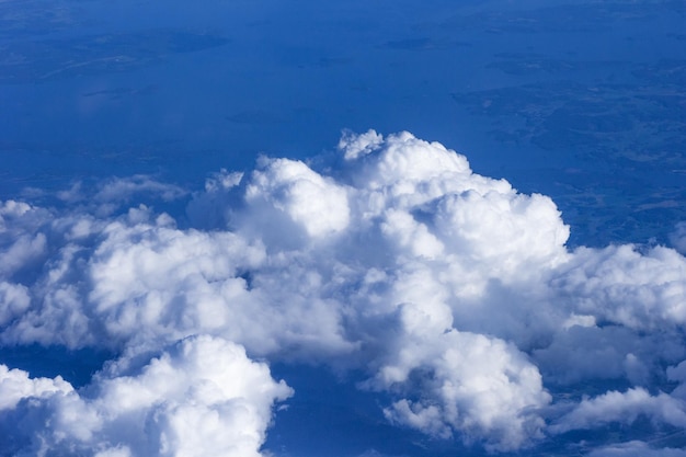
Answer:
[[[132,366],[134,365],[134,366]],[[0,365],[9,455],[260,456],[272,405],[291,395],[241,346],[197,336],[138,366],[125,357],[76,391]]]

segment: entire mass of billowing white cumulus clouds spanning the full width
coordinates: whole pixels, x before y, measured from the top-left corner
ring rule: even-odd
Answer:
[[[119,354],[78,390],[0,372],[0,425],[25,424],[12,449],[259,455],[290,391],[248,357],[354,368],[391,423],[491,452],[641,415],[686,426],[684,256],[570,251],[549,197],[437,142],[346,133],[318,167],[222,170],[186,228],[136,206],[149,193],[184,195],[135,176],[94,206],[0,206],[0,342]]]

